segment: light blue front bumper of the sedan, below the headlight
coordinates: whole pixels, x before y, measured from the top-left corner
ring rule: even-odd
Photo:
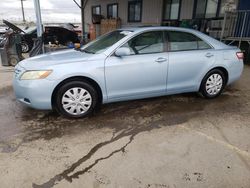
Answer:
[[[55,81],[41,80],[19,80],[14,76],[13,88],[18,101],[41,110],[51,110],[51,96],[56,86]]]

